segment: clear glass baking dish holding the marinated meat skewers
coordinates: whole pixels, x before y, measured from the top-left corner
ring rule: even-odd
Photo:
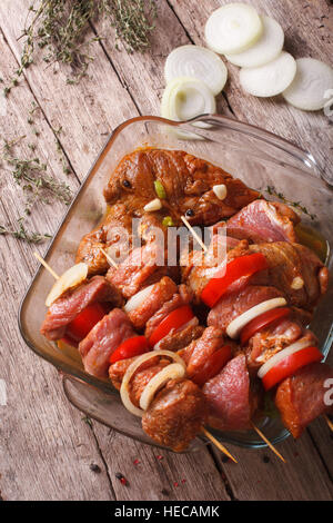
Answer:
[[[204,158],[241,178],[248,186],[261,190],[269,199],[272,196],[268,188],[272,193],[273,187],[274,193],[282,194],[287,200],[301,203],[307,211],[302,215],[302,221],[314,227],[332,245],[332,189],[324,181],[325,177],[330,178],[310,152],[263,129],[222,116],[202,116],[188,122],[138,117],[123,122],[111,134],[60,224],[44,256],[56,273],[61,274],[73,264],[81,237],[103,217],[103,187],[117,164],[138,147],[148,146],[183,149]],[[327,258],[331,268],[332,258]],[[36,354],[63,373],[67,397],[78,408],[130,437],[153,444],[142,432],[140,420],[122,406],[119,393],[111,383],[87,374],[77,351],[61,351],[40,334],[46,314],[44,299],[52,283],[52,276],[43,267],[39,267],[19,310],[19,326],[26,343]],[[324,356],[329,353],[333,337],[332,299],[331,283],[311,324]],[[261,427],[274,444],[289,435],[278,420],[264,418]],[[265,445],[254,431],[212,432],[221,442],[254,448]],[[198,450],[201,445],[202,442],[196,438],[191,450]]]

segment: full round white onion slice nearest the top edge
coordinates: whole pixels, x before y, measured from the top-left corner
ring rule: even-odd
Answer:
[[[252,6],[228,3],[212,12],[204,28],[206,45],[221,55],[242,52],[261,37],[263,26]]]

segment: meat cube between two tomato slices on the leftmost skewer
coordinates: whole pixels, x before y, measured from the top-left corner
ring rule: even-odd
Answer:
[[[125,339],[135,336],[128,315],[114,308],[79,344],[84,369],[97,377],[108,377],[110,356]]]

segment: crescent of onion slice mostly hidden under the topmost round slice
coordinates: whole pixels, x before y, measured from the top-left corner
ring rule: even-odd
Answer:
[[[226,55],[225,58],[239,67],[260,67],[274,60],[280,55],[284,42],[284,32],[280,23],[270,17],[261,17],[263,33],[246,51]]]

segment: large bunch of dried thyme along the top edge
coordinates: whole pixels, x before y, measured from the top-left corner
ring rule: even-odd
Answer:
[[[36,0],[29,7],[20,37],[24,38],[21,63],[4,88],[4,95],[8,96],[23,70],[33,62],[36,48],[46,50],[46,62],[71,66],[68,83],[78,82],[93,59],[88,52],[90,43],[100,40],[99,36],[87,38],[91,22],[101,17],[115,28],[117,39],[121,39],[130,52],[143,52],[150,47],[157,17],[155,0]]]

